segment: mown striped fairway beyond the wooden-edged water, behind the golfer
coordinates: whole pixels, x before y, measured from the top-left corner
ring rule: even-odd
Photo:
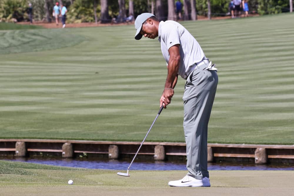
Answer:
[[[293,144],[293,16],[183,22],[219,69],[208,142]],[[167,72],[157,40],[133,25],[3,32],[1,138],[143,139]],[[184,141],[184,82],[148,141]]]

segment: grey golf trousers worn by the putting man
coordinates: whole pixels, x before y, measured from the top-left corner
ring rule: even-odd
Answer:
[[[189,74],[183,95],[187,175],[196,179],[209,177],[207,127],[216,95],[218,75],[216,71],[206,70],[207,66],[208,63],[196,66]]]

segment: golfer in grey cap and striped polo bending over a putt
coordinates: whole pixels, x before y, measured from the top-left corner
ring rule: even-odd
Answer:
[[[175,21],[161,21],[153,14],[136,18],[135,39],[158,37],[167,62],[167,78],[160,106],[171,103],[178,75],[186,80],[184,101],[184,133],[188,174],[181,180],[170,181],[174,187],[210,187],[207,170],[207,127],[216,94],[218,75],[215,64],[204,55],[196,39]]]

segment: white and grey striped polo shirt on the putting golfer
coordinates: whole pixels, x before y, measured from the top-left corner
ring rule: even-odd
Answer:
[[[190,66],[199,63],[205,57],[199,43],[189,33],[189,31],[176,21],[161,21],[158,27],[158,41],[161,45],[161,52],[166,60],[169,61],[168,49],[171,46],[180,44],[181,61],[178,75],[186,79],[185,73]]]

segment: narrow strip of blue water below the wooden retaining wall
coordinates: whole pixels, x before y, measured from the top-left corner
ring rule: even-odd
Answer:
[[[0,158],[1,160],[39,163],[88,169],[127,170],[131,160],[62,159],[62,158]],[[186,170],[184,162],[135,160],[130,170]],[[294,164],[255,165],[254,163],[208,163],[208,170],[294,170]]]

